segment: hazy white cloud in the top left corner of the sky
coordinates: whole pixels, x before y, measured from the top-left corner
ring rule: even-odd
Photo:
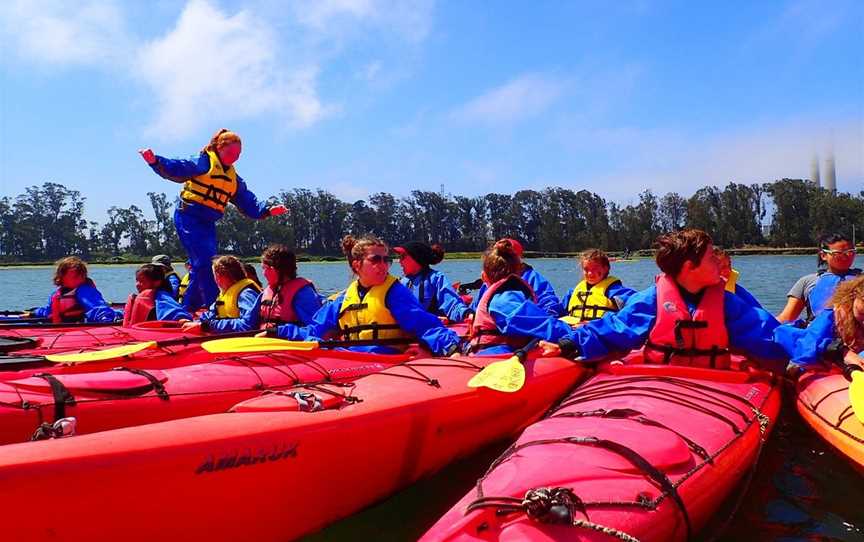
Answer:
[[[0,41],[15,44],[21,58],[54,67],[114,64],[130,45],[122,10],[111,0],[4,3],[0,29]]]

